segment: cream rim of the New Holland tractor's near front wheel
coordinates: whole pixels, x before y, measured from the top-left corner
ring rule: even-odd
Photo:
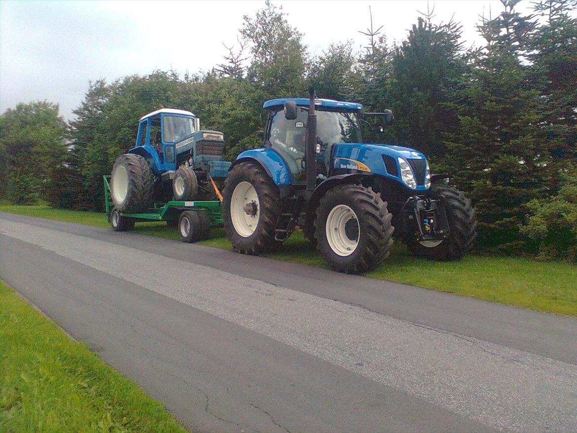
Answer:
[[[351,227],[351,221],[356,222],[356,238],[354,233],[347,234],[355,227]],[[347,227],[347,223],[349,223]],[[327,223],[325,224],[325,233],[327,234],[327,241],[332,251],[342,257],[350,256],[357,245],[359,244],[359,235],[361,233],[361,226],[357,214],[346,204],[338,204],[331,209],[327,216]],[[351,239],[349,236],[353,237]]]

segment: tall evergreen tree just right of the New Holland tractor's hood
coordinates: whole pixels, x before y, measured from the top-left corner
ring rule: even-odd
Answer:
[[[469,72],[449,95],[459,129],[447,134],[443,168],[471,193],[480,246],[518,251],[523,204],[542,196],[550,167],[536,140],[539,94],[520,61],[534,22],[514,11],[516,0],[502,2],[503,13],[479,24],[486,46],[471,54]]]

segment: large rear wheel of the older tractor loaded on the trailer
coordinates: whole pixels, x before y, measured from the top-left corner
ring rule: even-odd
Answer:
[[[151,207],[154,175],[147,160],[134,154],[118,156],[112,169],[110,192],[119,212],[142,212]]]

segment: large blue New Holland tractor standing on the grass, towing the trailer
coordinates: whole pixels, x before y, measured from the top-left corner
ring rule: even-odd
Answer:
[[[362,273],[388,256],[393,237],[415,255],[462,257],[477,222],[471,202],[430,173],[424,155],[362,142],[358,103],[273,99],[263,148],[238,155],[225,182],[222,218],[236,251],[258,254],[296,226],[335,270]]]

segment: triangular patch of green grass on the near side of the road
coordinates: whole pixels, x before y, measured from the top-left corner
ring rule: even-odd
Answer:
[[[0,305],[0,431],[185,432],[1,281]]]

